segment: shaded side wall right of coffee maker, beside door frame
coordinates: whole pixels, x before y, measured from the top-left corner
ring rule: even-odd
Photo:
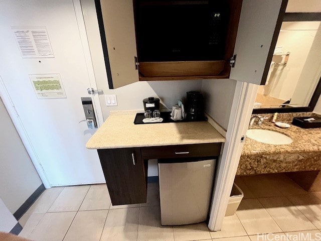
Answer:
[[[227,130],[236,81],[233,79],[203,80],[205,111]]]

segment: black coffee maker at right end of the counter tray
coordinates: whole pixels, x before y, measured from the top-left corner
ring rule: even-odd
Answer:
[[[204,119],[203,95],[198,91],[186,92],[186,118],[193,121]]]

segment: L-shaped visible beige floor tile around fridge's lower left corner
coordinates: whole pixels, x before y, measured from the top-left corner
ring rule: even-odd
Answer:
[[[159,207],[141,207],[137,241],[174,241],[173,227],[161,225]]]

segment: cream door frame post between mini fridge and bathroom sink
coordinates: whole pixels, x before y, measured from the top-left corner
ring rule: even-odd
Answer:
[[[218,160],[208,227],[222,228],[259,85],[237,81],[222,156]]]

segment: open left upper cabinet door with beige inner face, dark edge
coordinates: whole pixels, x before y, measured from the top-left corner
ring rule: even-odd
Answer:
[[[95,4],[109,88],[137,82],[132,0],[95,0]]]

